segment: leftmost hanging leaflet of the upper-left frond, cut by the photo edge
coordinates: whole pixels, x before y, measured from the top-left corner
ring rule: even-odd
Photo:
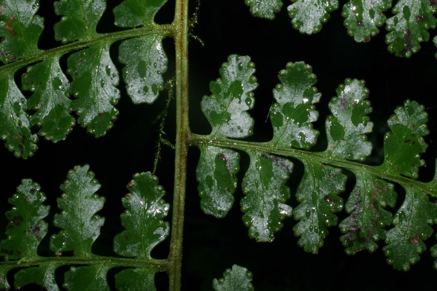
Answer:
[[[0,72],[0,135],[16,157],[33,156],[38,137],[30,131],[27,100],[18,89],[13,74]]]

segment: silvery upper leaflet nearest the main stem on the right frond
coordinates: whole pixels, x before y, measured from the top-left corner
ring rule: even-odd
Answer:
[[[255,65],[248,56],[230,55],[219,69],[220,79],[209,84],[211,96],[203,96],[202,112],[212,127],[211,136],[248,137],[253,119],[253,90],[258,86],[253,76]]]

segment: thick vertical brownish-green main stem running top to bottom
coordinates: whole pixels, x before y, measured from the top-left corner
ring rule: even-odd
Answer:
[[[188,0],[177,0],[173,20],[176,47],[176,144],[173,221],[169,261],[169,290],[181,289],[186,157],[188,154]]]

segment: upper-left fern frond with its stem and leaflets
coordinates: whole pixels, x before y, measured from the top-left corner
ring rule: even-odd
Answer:
[[[18,157],[32,156],[38,141],[34,126],[46,139],[64,140],[76,122],[71,110],[89,133],[104,136],[118,115],[119,77],[109,51],[120,39],[132,38],[119,48],[129,95],[134,103],[155,101],[167,70],[162,39],[172,32],[169,25],[157,25],[153,18],[166,2],[123,1],[114,9],[117,24],[140,28],[99,34],[96,27],[106,0],[55,1],[54,12],[61,19],[54,25],[54,38],[65,45],[42,51],[37,46],[44,28],[43,18],[36,14],[39,1],[0,1],[0,60],[5,64],[0,67],[0,136],[6,147]],[[133,12],[137,17],[132,17]],[[72,51],[76,52],[67,59],[67,72],[73,79],[69,84],[59,60]],[[32,92],[29,100],[14,82],[14,74],[26,66],[22,90]],[[29,116],[31,110],[36,112]]]

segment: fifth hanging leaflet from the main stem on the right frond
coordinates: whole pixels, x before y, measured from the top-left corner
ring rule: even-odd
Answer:
[[[387,231],[383,248],[387,262],[396,270],[409,270],[426,250],[423,241],[432,235],[433,223],[437,223],[437,205],[419,189],[405,187],[405,200],[393,220],[395,227]]]

